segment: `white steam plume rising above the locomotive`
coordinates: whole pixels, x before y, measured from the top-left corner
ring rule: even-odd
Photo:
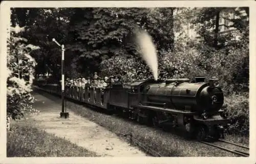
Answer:
[[[140,52],[143,60],[151,68],[155,80],[158,79],[158,60],[156,47],[151,36],[142,30],[136,31],[137,50]]]

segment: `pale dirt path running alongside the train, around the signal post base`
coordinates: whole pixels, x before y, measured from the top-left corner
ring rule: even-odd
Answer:
[[[38,126],[47,132],[54,133],[56,136],[65,138],[102,156],[146,156],[142,151],[121,141],[114,133],[86,118],[75,115],[68,108],[70,118],[59,118],[61,104],[38,93],[34,93],[34,96],[36,98],[34,107],[41,113],[31,117]]]

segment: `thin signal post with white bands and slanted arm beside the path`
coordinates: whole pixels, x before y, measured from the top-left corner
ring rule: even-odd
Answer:
[[[53,42],[55,42],[58,46],[61,47],[61,101],[62,101],[62,108],[61,108],[61,113],[60,113],[60,117],[61,118],[68,118],[69,117],[69,113],[67,113],[67,108],[64,111],[64,99],[65,99],[65,75],[64,75],[64,45],[60,45],[54,38],[52,39]]]

